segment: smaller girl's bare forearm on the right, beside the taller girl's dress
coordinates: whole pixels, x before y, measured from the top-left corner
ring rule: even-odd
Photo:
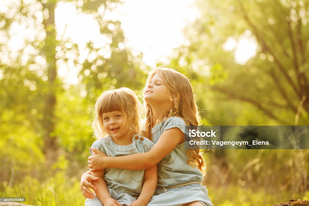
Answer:
[[[157,179],[158,179],[158,171],[157,165],[150,167],[145,170],[144,173],[144,184],[142,187],[141,194],[139,195],[138,199],[131,203],[129,206],[134,205],[147,205],[151,199],[151,197],[155,193],[155,188],[157,186]]]

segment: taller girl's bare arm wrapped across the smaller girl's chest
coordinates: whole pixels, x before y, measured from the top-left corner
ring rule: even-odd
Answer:
[[[181,141],[184,133],[174,127],[162,133],[159,141],[148,152],[125,155],[121,157],[106,157],[103,152],[91,148],[98,155],[89,158],[90,171],[98,171],[105,168],[118,168],[125,170],[143,170],[156,165],[163,157],[167,156]]]

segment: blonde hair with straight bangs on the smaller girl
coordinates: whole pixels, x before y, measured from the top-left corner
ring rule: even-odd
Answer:
[[[93,107],[93,135],[99,139],[107,136],[103,127],[103,113],[120,111],[125,116],[124,124],[128,125],[129,133],[138,134],[141,128],[141,104],[134,92],[129,88],[104,91]]]

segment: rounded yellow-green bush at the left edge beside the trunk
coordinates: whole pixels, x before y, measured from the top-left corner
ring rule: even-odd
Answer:
[[[1,113],[0,162],[6,165],[2,169],[1,180],[13,181],[32,173],[32,167],[42,164],[42,139],[33,130],[31,122],[25,115],[16,115],[13,111],[3,109]]]

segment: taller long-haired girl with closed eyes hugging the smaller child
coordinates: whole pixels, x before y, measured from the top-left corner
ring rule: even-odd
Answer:
[[[205,164],[200,151],[184,148],[185,125],[195,126],[200,120],[188,78],[172,69],[155,68],[150,71],[143,91],[145,133],[155,143],[154,147],[149,152],[123,157],[105,157],[99,152],[88,158],[88,166],[91,171],[140,170],[158,163],[157,188],[148,205],[211,206],[208,191],[201,185]],[[93,179],[84,178],[89,182]]]

